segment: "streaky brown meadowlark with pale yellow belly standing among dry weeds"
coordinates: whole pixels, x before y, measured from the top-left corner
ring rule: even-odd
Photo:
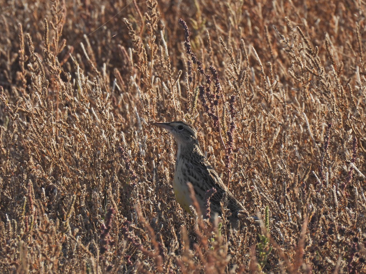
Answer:
[[[214,213],[221,215],[220,202],[223,201],[225,195],[227,197],[227,208],[231,212],[231,216],[228,218],[229,221],[236,222],[238,213],[248,214],[244,206],[235,199],[205,155],[203,155],[198,144],[197,132],[191,125],[181,121],[152,123],[152,125],[167,129],[178,143],[173,189],[177,201],[184,209],[191,212],[190,206],[193,205],[187,186],[187,183],[191,183],[202,213],[206,211],[207,193],[214,188],[216,193],[210,198],[211,216]]]

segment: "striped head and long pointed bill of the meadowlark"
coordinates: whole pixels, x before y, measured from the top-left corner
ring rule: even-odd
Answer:
[[[167,129],[177,140],[178,146],[198,144],[196,130],[186,122],[152,123],[152,125]]]

